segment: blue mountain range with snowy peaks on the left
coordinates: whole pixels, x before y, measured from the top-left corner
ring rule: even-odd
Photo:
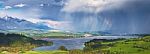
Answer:
[[[0,17],[0,30],[49,30],[52,29],[41,23],[32,23],[24,19],[13,18],[10,16]]]

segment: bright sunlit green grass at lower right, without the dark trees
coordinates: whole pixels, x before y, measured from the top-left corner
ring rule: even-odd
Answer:
[[[149,37],[150,38],[150,37]],[[139,39],[138,41],[124,41],[117,42],[113,47],[107,48],[111,53],[120,53],[120,54],[150,54],[150,42],[144,40],[148,39],[144,37],[143,40]],[[106,49],[104,49],[106,50]]]

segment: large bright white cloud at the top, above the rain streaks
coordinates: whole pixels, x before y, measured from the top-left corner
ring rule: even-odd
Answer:
[[[68,0],[64,12],[99,12],[119,7],[125,0]]]

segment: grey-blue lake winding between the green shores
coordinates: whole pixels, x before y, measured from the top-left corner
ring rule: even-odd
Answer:
[[[52,41],[52,46],[37,47],[33,50],[57,50],[60,46],[65,46],[67,49],[83,49],[84,43],[92,39],[118,39],[118,38],[138,38],[139,36],[93,36],[82,38],[42,38],[42,40]]]

